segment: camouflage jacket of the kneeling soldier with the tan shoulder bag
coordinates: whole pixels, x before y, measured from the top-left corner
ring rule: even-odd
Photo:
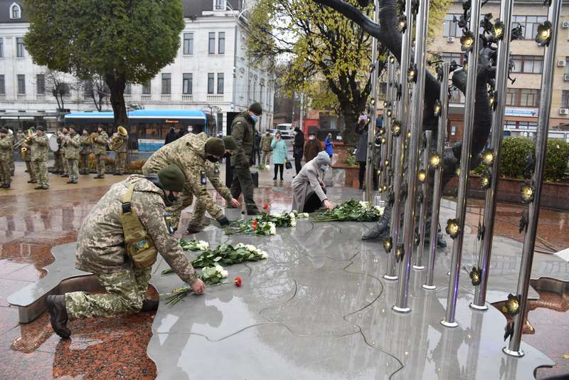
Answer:
[[[144,176],[137,174],[113,184],[87,214],[79,230],[75,266],[95,274],[132,268],[132,262],[124,248],[124,232],[120,219],[122,199],[131,184],[134,184],[132,209],[156,250],[181,280],[192,284],[197,278],[196,271],[181,250],[178,239],[170,235],[166,227],[163,191]]]

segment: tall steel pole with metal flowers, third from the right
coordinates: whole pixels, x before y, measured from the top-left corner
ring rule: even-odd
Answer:
[[[470,151],[472,132],[474,131],[474,103],[476,102],[476,85],[478,69],[478,36],[479,16],[482,0],[472,0],[470,6],[469,30],[464,31],[460,43],[462,50],[469,51],[467,66],[467,90],[464,101],[464,135],[460,154],[460,171],[457,196],[457,214],[455,219],[447,221],[447,233],[454,239],[450,264],[449,292],[447,295],[447,312],[441,323],[446,327],[457,327],[454,320],[459,290],[460,263],[462,260],[462,243],[464,242],[464,218],[467,211],[467,186],[470,167]]]

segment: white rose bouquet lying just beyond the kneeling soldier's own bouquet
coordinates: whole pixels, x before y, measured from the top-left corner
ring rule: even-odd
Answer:
[[[187,242],[189,244],[191,241]],[[233,265],[243,263],[244,261],[259,261],[268,257],[269,255],[264,250],[260,250],[250,244],[239,243],[237,246],[222,244],[214,250],[206,249],[192,260],[191,265],[193,268],[206,268],[215,265]],[[174,270],[171,268],[162,270],[163,275],[168,273],[174,273]]]

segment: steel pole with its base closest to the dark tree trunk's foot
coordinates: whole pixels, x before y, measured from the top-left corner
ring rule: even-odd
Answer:
[[[413,43],[413,4],[411,1],[405,2],[405,16],[407,16],[407,27],[403,33],[401,42],[401,59],[400,59],[400,85],[401,85],[401,99],[399,100],[397,119],[400,122],[400,132],[397,137],[393,136],[393,144],[395,144],[395,157],[393,157],[393,210],[391,211],[390,219],[390,239],[391,250],[388,255],[387,270],[383,278],[385,280],[397,280],[398,276],[395,273],[395,250],[399,244],[399,232],[401,222],[401,184],[403,183],[403,163],[405,152],[405,139],[407,138],[407,126],[409,119],[410,99],[409,99],[409,82],[407,80],[407,69],[409,67],[411,55],[411,43]]]

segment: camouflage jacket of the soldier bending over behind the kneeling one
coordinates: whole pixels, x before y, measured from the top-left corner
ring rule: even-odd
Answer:
[[[189,191],[199,199],[213,218],[219,218],[223,212],[213,201],[206,186],[201,184],[201,174],[206,175],[206,140],[205,133],[188,133],[174,142],[164,145],[147,159],[142,167],[144,174],[157,173],[160,169],[174,164],[184,171],[186,183],[184,191]]]

